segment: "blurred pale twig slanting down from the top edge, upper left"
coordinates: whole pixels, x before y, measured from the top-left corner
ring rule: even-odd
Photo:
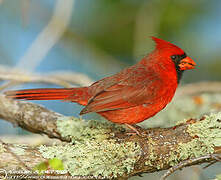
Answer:
[[[24,56],[18,61],[17,67],[32,72],[44,59],[51,48],[61,38],[71,20],[74,0],[57,0],[54,13],[47,26],[30,45]]]

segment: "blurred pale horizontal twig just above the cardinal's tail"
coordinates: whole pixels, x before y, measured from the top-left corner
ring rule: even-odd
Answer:
[[[74,84],[88,86],[93,81],[85,74],[55,71],[45,74],[27,73],[19,69],[0,66],[0,80],[10,81],[1,85],[0,90],[23,83],[49,83],[62,87],[73,87]]]

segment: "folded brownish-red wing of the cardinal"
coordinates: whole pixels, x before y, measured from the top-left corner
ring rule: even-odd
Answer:
[[[133,77],[130,77],[133,76]],[[124,109],[152,103],[157,98],[162,80],[155,74],[142,71],[131,74],[94,96],[80,114]]]

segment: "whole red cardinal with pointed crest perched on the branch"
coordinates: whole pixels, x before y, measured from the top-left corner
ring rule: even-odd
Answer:
[[[27,89],[6,95],[26,100],[67,100],[81,104],[80,115],[96,112],[114,123],[144,121],[161,111],[173,98],[184,70],[196,63],[176,45],[152,37],[156,48],[137,64],[88,87]]]

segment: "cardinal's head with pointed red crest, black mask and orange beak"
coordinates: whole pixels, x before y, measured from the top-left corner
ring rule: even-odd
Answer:
[[[194,69],[196,63],[178,46],[165,40],[152,37],[156,43],[155,52],[162,59],[174,62],[178,71]]]

